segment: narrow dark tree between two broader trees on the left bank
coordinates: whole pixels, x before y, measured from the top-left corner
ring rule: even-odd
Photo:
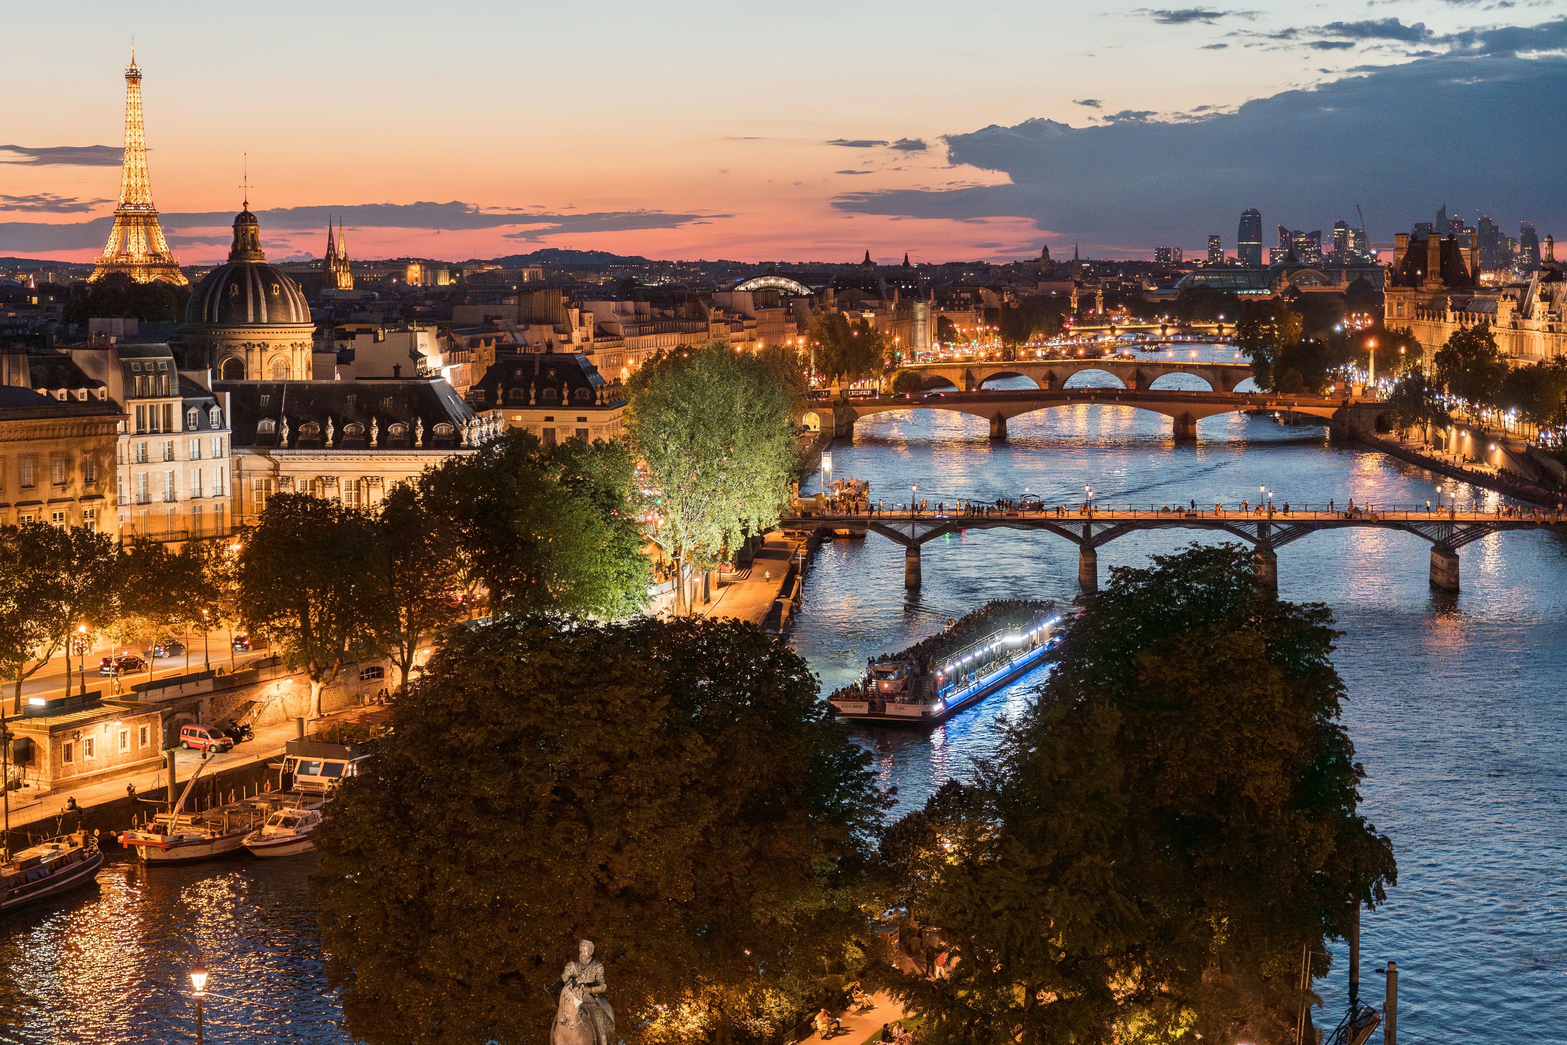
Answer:
[[[407,694],[420,642],[462,616],[461,561],[451,531],[428,511],[418,490],[398,484],[375,517],[375,566],[368,578],[370,635],[398,669]]]

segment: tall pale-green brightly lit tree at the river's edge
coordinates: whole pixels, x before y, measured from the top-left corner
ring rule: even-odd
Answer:
[[[653,541],[683,581],[779,519],[794,473],[787,390],[771,368],[722,342],[672,353],[632,376],[630,434],[647,468]],[[683,613],[685,583],[677,609]]]

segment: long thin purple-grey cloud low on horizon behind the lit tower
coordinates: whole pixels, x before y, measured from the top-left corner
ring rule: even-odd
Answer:
[[[570,208],[566,208],[570,210]],[[512,240],[536,240],[558,232],[632,232],[644,229],[679,229],[699,218],[732,218],[733,215],[677,215],[663,210],[614,210],[586,215],[567,213],[492,213],[459,201],[447,204],[353,204],[321,207],[280,207],[257,210],[263,233],[324,230],[328,218],[343,221],[349,232],[362,229],[415,229],[422,232],[464,232],[473,229],[517,229],[506,233]],[[0,222],[0,243],[8,254],[25,257],[36,252],[80,251],[102,248],[111,216],[69,224],[28,221]],[[233,212],[174,213],[158,216],[171,243],[229,243],[218,233],[233,222]]]

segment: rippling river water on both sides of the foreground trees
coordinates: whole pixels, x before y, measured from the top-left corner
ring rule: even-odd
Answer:
[[[1183,349],[1185,354],[1185,349]],[[1207,353],[1203,353],[1207,354]],[[1218,353],[1229,359],[1229,351]],[[1089,382],[1083,374],[1072,384]],[[1180,381],[1172,378],[1169,381]],[[1026,382],[1025,382],[1026,384]],[[882,415],[834,448],[834,475],[870,479],[873,497],[1017,498],[1100,504],[1255,500],[1423,503],[1432,479],[1321,428],[1221,415],[1197,445],[1175,445],[1167,418],[1075,406],[1009,423],[992,445],[979,418]],[[807,490],[812,489],[807,484]],[[1460,490],[1487,501],[1482,490]],[[1210,536],[1133,534],[1100,548],[1136,566]],[[1518,533],[1462,550],[1464,591],[1428,584],[1428,545],[1410,534],[1337,531],[1279,551],[1283,598],[1324,602],[1344,638],[1344,716],[1370,777],[1365,808],[1398,852],[1399,885],[1365,920],[1362,981],[1399,965],[1406,1042],[1567,1040],[1567,544]],[[793,644],[823,689],[989,598],[1070,600],[1077,550],[1045,536],[973,531],[925,548],[925,586],[909,598],[903,553],[870,536],[820,551]],[[993,747],[992,722],[1015,713],[1025,678],[926,736],[865,730],[899,810],[923,804]],[[83,890],[0,920],[0,1042],[194,1040],[186,970],[204,962],[210,1042],[348,1042],[334,1020],[304,885],[313,857],[144,871],[119,851]],[[1318,984],[1329,1028],[1344,1004],[1344,962]]]

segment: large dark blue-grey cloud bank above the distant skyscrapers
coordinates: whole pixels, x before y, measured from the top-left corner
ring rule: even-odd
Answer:
[[[1373,34],[1373,25],[1337,28]],[[1385,36],[1395,27],[1374,28]],[[953,135],[953,163],[1003,172],[1011,185],[846,193],[834,205],[909,218],[1022,216],[1084,243],[1144,246],[1191,244],[1208,232],[1230,244],[1246,207],[1261,208],[1265,229],[1326,227],[1354,221],[1357,202],[1381,241],[1429,221],[1443,202],[1465,215],[1481,207],[1514,233],[1518,218],[1542,233],[1567,230],[1567,20],[1443,42],[1446,55],[1235,113],[1160,121],[1128,111],[1105,127],[1031,119]]]

